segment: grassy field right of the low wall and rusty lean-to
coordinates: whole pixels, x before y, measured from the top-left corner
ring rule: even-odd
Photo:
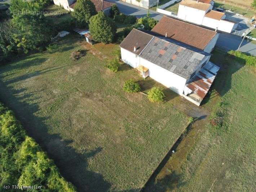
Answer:
[[[209,117],[195,120],[176,153],[144,191],[254,191],[256,70],[215,51],[221,64],[202,109],[223,114],[216,129]]]

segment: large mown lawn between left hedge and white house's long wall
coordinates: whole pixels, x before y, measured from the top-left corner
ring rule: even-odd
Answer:
[[[125,64],[117,73],[104,67],[117,44],[68,35],[58,45],[1,66],[0,100],[79,191],[138,191],[188,124],[173,106],[179,97],[164,90],[167,100],[155,104],[125,93],[131,78],[144,92],[159,84]],[[73,61],[77,49],[87,53]]]

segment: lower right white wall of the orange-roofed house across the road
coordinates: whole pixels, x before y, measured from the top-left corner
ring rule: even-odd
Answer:
[[[202,25],[213,28],[213,29],[216,29],[216,27],[218,27],[218,30],[224,31],[227,33],[230,33],[234,28],[236,28],[236,23],[229,22],[222,19],[220,20],[212,19],[208,17],[204,17]]]

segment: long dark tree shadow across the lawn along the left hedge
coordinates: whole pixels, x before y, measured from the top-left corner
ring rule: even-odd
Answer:
[[[49,70],[45,72],[49,72]],[[0,80],[1,102],[14,111],[28,135],[40,144],[48,156],[54,160],[62,176],[73,183],[78,191],[109,191],[111,184],[101,174],[88,170],[88,159],[101,152],[102,148],[98,147],[92,151],[84,150],[78,153],[70,146],[73,140],[63,140],[59,134],[49,134],[48,131],[51,130],[51,127],[45,124],[49,117],[35,115],[40,110],[38,103],[33,103],[36,99],[35,93],[26,93],[26,88],[17,90],[9,86],[14,82],[26,81],[26,79],[42,73],[44,73],[43,70],[27,73],[5,82]]]

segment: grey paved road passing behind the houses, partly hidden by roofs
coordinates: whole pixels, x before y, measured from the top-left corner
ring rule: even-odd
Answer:
[[[147,15],[147,9],[144,9],[142,7],[124,3],[118,0],[108,0],[108,1],[115,3],[118,6],[120,12],[125,15],[136,15],[136,17],[139,17],[139,18],[145,17]],[[163,15],[153,10],[150,10],[150,17],[159,21],[163,17]],[[241,41],[242,41],[241,37],[237,35],[220,34],[220,37],[216,45],[226,50],[237,50]],[[244,40],[239,50],[242,52],[250,53],[252,55],[256,55],[256,44],[253,44],[253,43],[247,42],[247,40]]]

